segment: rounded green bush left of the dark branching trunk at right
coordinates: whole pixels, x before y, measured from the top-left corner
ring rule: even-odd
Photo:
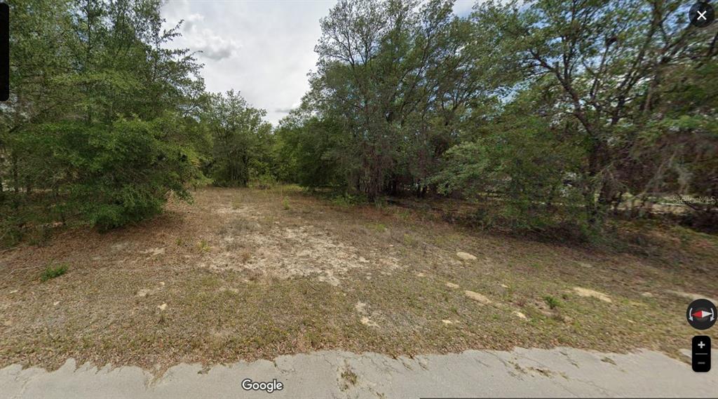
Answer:
[[[582,231],[587,224],[575,180],[575,146],[553,136],[539,118],[491,132],[449,149],[432,182],[439,192],[460,192],[482,206],[482,225],[518,231]]]

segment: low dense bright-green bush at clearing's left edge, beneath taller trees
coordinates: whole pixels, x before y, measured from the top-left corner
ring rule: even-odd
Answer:
[[[161,124],[118,119],[111,126],[44,126],[57,168],[75,177],[60,189],[69,194],[61,207],[108,230],[158,215],[170,194],[190,199],[185,183],[197,177],[197,168],[182,146],[164,137]]]

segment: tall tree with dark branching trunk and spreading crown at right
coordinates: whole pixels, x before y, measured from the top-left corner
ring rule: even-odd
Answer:
[[[564,117],[579,123],[584,208],[595,229],[628,189],[640,132],[663,118],[656,106],[667,72],[715,56],[715,32],[691,27],[686,15],[682,1],[538,0],[488,2],[472,17],[528,80],[549,78]],[[643,172],[661,174],[653,166]]]

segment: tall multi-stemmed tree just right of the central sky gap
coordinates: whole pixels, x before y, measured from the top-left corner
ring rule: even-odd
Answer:
[[[452,4],[342,0],[322,19],[307,108],[340,126],[346,186],[370,199],[426,192],[465,108],[486,93]]]

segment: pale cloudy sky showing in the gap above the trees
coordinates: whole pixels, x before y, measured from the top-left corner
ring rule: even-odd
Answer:
[[[167,0],[166,27],[182,24],[173,47],[199,52],[207,90],[239,91],[276,123],[297,108],[309,89],[319,20],[335,0]],[[474,0],[457,0],[454,12],[470,12]]]

